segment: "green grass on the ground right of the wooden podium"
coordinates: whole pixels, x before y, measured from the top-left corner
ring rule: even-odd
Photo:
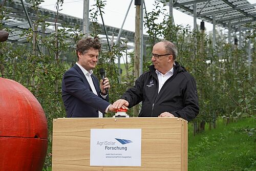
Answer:
[[[247,118],[219,124],[196,136],[189,125],[188,170],[256,170],[255,137],[241,131],[247,126],[255,127],[254,121]]]

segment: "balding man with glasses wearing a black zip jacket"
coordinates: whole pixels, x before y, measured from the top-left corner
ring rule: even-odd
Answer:
[[[139,117],[194,119],[199,113],[196,80],[175,61],[176,57],[172,42],[158,42],[153,47],[150,71],[113,103],[114,108],[131,108],[142,101]]]

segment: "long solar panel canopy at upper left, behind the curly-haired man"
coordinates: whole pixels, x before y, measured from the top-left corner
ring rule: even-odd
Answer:
[[[0,4],[3,4],[4,0],[0,0]],[[36,11],[31,8],[31,5],[28,3],[24,3],[25,8],[27,9],[28,16],[30,20],[37,20],[38,17],[35,15]],[[5,8],[10,11],[6,16],[10,17],[10,19],[7,19],[3,21],[4,27],[7,27],[11,30],[11,33],[9,34],[8,41],[11,41],[13,43],[25,43],[27,42],[26,36],[20,37],[19,35],[22,34],[23,30],[29,29],[30,25],[26,16],[26,12],[24,11],[24,7],[22,6],[21,1],[19,0],[13,0],[11,3],[6,1],[5,2]],[[52,10],[48,10],[45,8],[38,8],[38,12],[41,15],[49,16],[46,18],[45,22],[49,23],[50,25],[54,25],[55,19],[57,17],[57,13]],[[59,26],[61,25],[70,25],[75,26],[79,25],[80,30],[82,30],[83,25],[83,19],[70,16],[67,14],[58,14],[58,20],[57,24]],[[91,22],[89,22],[91,25]],[[101,29],[100,34],[105,35],[104,28],[102,24],[99,24]],[[106,30],[108,30],[108,35],[115,36],[115,38],[118,36],[119,28],[111,27],[111,26],[105,26]],[[42,32],[41,26],[38,26],[37,32]],[[54,29],[46,28],[44,31],[45,34],[51,34],[54,33]],[[134,42],[134,35],[135,33],[128,30],[122,30],[120,37],[123,39],[127,39],[130,42]],[[144,38],[147,39],[148,36],[144,35]],[[106,41],[106,39],[102,38],[103,41]],[[115,40],[116,41],[116,40]],[[130,47],[131,48],[131,47]]]

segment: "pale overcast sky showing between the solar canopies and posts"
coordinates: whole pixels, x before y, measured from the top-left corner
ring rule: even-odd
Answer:
[[[56,11],[55,3],[57,0],[44,0],[41,3],[41,7],[47,8],[49,10]],[[256,0],[247,0],[251,4],[255,4]],[[83,17],[83,0],[64,0],[62,5],[61,13],[82,18]],[[155,0],[145,0],[145,7],[147,12],[151,12],[154,8]],[[90,0],[90,9],[92,5],[96,3],[96,0]],[[105,0],[105,7],[103,9],[103,20],[104,24],[116,28],[122,26],[126,11],[131,3],[131,0]],[[135,5],[134,0],[132,2],[131,8],[123,25],[124,30],[135,31]],[[169,11],[169,6],[165,9]],[[174,22],[175,25],[190,25],[194,28],[194,19],[192,16],[184,14],[176,9],[173,9]],[[101,17],[98,17],[98,22],[102,24]],[[161,18],[159,18],[161,19]],[[200,25],[201,20],[197,19],[197,25]],[[205,22],[206,32],[212,31],[212,24]],[[145,30],[144,30],[145,33]]]

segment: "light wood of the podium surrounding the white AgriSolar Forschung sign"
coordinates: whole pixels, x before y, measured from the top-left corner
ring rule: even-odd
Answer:
[[[90,166],[91,129],[141,129],[141,166]],[[52,170],[187,170],[187,121],[181,118],[53,120]]]

